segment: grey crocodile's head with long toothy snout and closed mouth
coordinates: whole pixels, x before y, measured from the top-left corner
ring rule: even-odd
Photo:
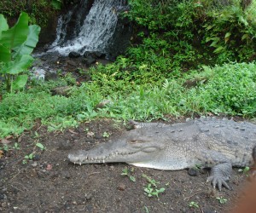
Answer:
[[[161,141],[155,141],[156,138]],[[143,166],[165,152],[165,139],[160,131],[136,129],[126,132],[118,140],[100,144],[88,151],[70,153],[68,158],[74,164],[125,162]]]

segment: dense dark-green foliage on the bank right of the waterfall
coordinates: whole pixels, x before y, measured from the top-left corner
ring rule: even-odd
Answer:
[[[133,60],[162,64],[162,58],[168,58],[167,66],[173,70],[255,59],[255,1],[134,0],[130,4],[131,11],[124,15],[137,26],[137,39],[142,41],[129,51]]]

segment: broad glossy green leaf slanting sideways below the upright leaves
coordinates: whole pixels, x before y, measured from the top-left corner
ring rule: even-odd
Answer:
[[[31,55],[20,55],[3,66],[3,74],[18,74],[26,70],[34,59]]]

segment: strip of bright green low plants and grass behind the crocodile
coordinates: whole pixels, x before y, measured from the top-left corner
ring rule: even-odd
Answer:
[[[32,89],[3,95],[0,138],[29,130],[36,120],[49,130],[64,130],[77,127],[84,120],[102,117],[149,121],[165,119],[166,115],[193,116],[208,112],[244,117],[256,114],[255,63],[203,66],[194,72],[180,73],[182,78],[160,78],[154,83],[144,83],[143,75],[137,75],[138,83],[128,78],[129,75],[113,78],[112,74],[106,74],[109,69],[113,69],[113,65],[93,72],[94,81],[79,88],[73,86],[69,97],[50,94],[49,88],[58,83],[33,84]],[[137,70],[133,75],[136,73]],[[67,84],[67,80],[71,82],[69,77],[61,79],[60,84]],[[186,88],[183,83],[188,80],[197,84]],[[112,104],[95,110],[96,104],[105,99]]]

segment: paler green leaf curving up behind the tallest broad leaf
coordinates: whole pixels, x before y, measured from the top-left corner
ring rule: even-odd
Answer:
[[[13,49],[15,50],[13,57],[15,58],[17,55],[30,55],[38,43],[38,35],[40,31],[40,26],[29,26],[29,32],[26,37],[26,41]]]

